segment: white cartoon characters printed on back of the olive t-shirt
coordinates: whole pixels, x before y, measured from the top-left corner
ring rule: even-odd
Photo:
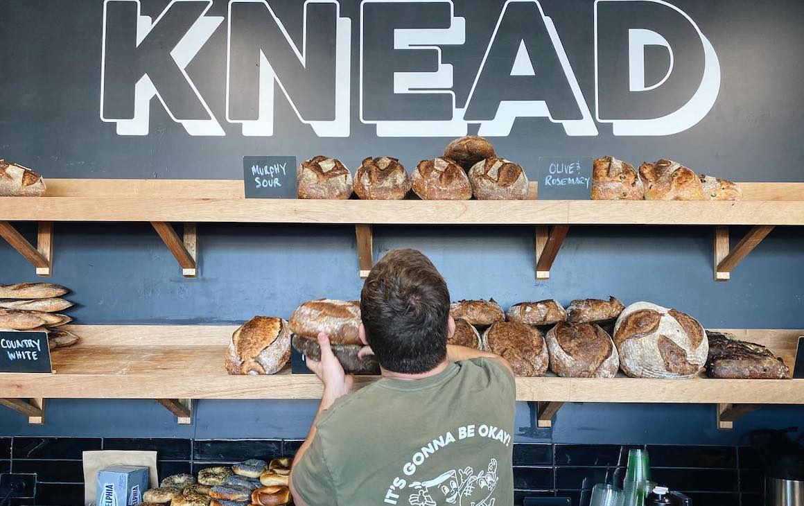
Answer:
[[[477,474],[467,466],[446,471],[427,481],[410,483],[408,487],[416,489],[416,492],[408,497],[408,501],[411,506],[494,506],[495,500],[491,495],[497,487],[497,481],[497,459],[491,459],[487,469]]]

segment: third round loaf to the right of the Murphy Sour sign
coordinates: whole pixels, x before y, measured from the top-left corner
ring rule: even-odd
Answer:
[[[416,195],[425,200],[470,200],[472,186],[466,172],[449,158],[422,160],[411,175]]]

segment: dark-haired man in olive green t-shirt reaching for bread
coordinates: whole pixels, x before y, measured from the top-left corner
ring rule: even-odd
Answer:
[[[298,450],[297,506],[511,506],[515,384],[493,353],[452,346],[449,290],[425,255],[397,249],[360,294],[361,356],[382,378],[350,393],[353,378],[318,335],[324,384]]]

